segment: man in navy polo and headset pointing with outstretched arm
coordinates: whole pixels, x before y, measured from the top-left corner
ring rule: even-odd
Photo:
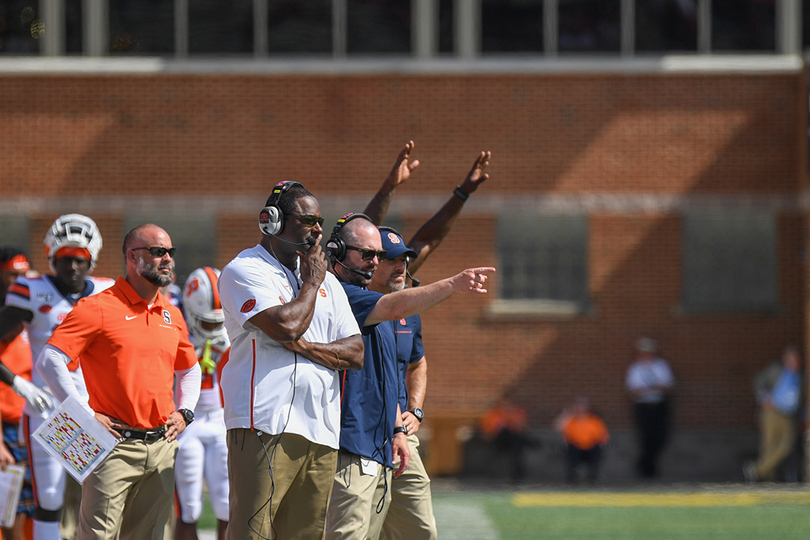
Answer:
[[[410,459],[399,406],[394,321],[421,313],[456,292],[486,293],[491,267],[467,269],[430,285],[383,295],[366,289],[386,253],[377,227],[364,214],[338,220],[326,245],[332,272],[343,284],[361,328],[365,359],[346,371],[341,404],[340,455],[327,515],[327,538],[376,539],[391,501],[394,476]]]

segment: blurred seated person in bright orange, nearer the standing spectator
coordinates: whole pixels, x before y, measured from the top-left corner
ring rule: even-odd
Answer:
[[[554,427],[562,434],[566,445],[566,481],[576,482],[577,468],[584,463],[588,481],[596,483],[610,435],[605,422],[591,412],[590,400],[586,396],[577,397],[573,406],[557,418]]]

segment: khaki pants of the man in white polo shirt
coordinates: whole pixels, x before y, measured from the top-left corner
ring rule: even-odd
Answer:
[[[292,433],[239,428],[227,437],[227,538],[323,538],[337,450]]]

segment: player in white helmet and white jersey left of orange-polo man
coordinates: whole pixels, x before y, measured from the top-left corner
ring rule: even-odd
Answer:
[[[54,221],[45,235],[45,253],[54,275],[21,276],[8,288],[6,304],[0,308],[0,337],[24,325],[32,357],[37,358],[53,329],[81,298],[97,294],[115,283],[108,278],[87,275],[96,265],[101,245],[101,233],[89,217],[65,214]],[[80,393],[86,396],[81,368],[71,375]],[[30,442],[31,433],[49,415],[56,400],[37,370],[33,370],[32,381],[28,382],[0,365],[0,381],[26,400],[23,430],[35,488],[34,540],[59,540],[65,470],[42,446]]]

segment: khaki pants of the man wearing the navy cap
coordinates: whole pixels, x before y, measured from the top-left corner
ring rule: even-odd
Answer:
[[[387,540],[436,540],[430,478],[419,455],[416,435],[408,435],[408,446],[408,468],[391,481],[391,507],[383,523],[383,536]]]

